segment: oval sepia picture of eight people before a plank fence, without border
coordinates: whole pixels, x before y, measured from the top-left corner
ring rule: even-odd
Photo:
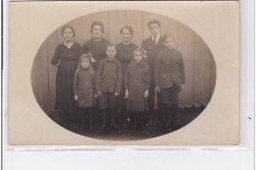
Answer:
[[[82,136],[113,141],[181,129],[208,105],[216,64],[191,28],[159,14],[115,10],[54,30],[32,65],[45,114]]]

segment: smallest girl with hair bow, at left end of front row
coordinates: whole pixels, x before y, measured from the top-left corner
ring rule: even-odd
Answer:
[[[91,54],[83,54],[79,58],[74,78],[74,99],[78,101],[81,129],[84,128],[86,118],[90,117],[90,128],[93,128],[93,105],[95,97],[95,70],[91,64],[94,61]]]

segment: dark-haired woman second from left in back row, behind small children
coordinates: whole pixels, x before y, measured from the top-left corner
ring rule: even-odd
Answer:
[[[106,45],[109,43],[108,40],[102,37],[104,32],[104,27],[101,22],[94,22],[91,26],[92,39],[85,42],[83,45],[82,52],[90,52],[96,59],[94,63],[94,68],[97,70],[99,62],[105,58]]]

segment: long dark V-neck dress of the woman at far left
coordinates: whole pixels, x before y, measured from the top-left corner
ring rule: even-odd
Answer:
[[[56,47],[51,64],[60,61],[56,76],[56,102],[55,109],[71,111],[74,109],[73,80],[78,59],[81,54],[81,45],[77,42],[68,48],[64,43]]]

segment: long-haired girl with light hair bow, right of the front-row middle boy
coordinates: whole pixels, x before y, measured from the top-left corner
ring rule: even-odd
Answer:
[[[150,67],[144,55],[143,49],[134,50],[133,60],[124,76],[127,110],[132,113],[135,129],[137,126],[142,126],[142,113],[149,109]]]

